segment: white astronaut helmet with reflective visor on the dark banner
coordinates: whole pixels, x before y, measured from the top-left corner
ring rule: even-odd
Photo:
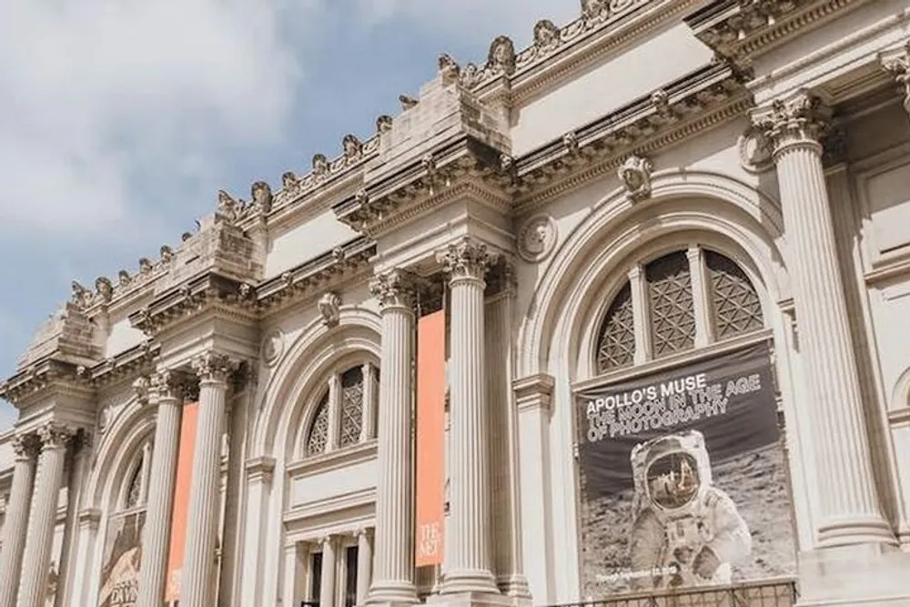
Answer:
[[[632,449],[631,460],[635,511],[679,511],[712,484],[711,461],[698,430],[639,443]]]

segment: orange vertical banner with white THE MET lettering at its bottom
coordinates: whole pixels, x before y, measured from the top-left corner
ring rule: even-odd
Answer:
[[[445,525],[446,315],[417,322],[416,565],[442,563]]]

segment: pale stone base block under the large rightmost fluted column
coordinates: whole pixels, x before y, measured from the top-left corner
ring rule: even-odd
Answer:
[[[804,552],[799,607],[910,605],[910,553],[864,544]]]

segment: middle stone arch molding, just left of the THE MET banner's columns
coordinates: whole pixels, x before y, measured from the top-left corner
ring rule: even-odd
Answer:
[[[262,391],[262,414],[254,433],[252,457],[285,459],[314,407],[314,392],[328,370],[366,353],[379,360],[379,314],[361,307],[339,310],[339,324],[326,329],[314,319],[288,348]]]

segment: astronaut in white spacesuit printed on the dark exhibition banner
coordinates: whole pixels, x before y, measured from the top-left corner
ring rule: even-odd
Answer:
[[[733,500],[713,486],[702,433],[639,443],[631,460],[632,588],[730,583],[732,563],[752,552],[752,536]]]

